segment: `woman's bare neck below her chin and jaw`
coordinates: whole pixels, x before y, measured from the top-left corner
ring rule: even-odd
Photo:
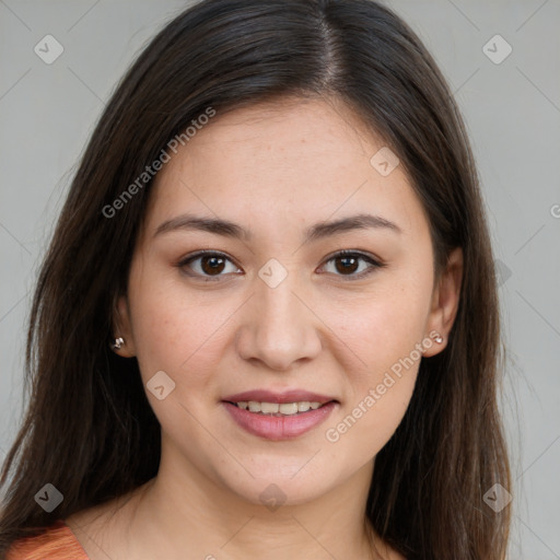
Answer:
[[[162,454],[158,476],[144,485],[130,516],[129,542],[138,548],[137,557],[153,549],[173,560],[187,551],[189,558],[206,560],[375,558],[365,523],[373,462],[304,503],[269,487],[277,503],[267,505],[243,499],[192,465],[172,468],[178,463],[171,458]]]

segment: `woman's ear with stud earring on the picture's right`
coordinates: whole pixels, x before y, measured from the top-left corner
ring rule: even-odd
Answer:
[[[445,270],[442,271],[438,285],[432,294],[430,315],[427,323],[427,331],[433,340],[435,332],[442,338],[442,343],[434,342],[423,352],[424,357],[440,353],[446,346],[450,331],[455,322],[460,298],[463,280],[463,249],[453,249],[447,258]]]

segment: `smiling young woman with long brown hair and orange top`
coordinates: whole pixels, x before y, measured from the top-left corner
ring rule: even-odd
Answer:
[[[368,0],[202,1],[72,183],[1,549],[503,559],[499,336],[468,140],[411,30]]]

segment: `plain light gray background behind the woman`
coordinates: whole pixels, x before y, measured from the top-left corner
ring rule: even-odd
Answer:
[[[463,109],[489,212],[508,349],[511,559],[560,559],[560,1],[394,0]],[[184,0],[0,0],[0,458],[23,410],[37,268],[117,80]],[[34,47],[51,34],[62,55]],[[501,35],[511,55],[483,46]],[[495,43],[495,42],[494,42]],[[490,43],[494,57],[504,44]]]

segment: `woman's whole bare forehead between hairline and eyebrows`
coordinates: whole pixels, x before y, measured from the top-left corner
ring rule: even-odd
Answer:
[[[278,230],[371,211],[415,225],[420,203],[400,166],[371,164],[383,141],[343,103],[288,100],[217,114],[158,174],[149,228],[180,211]],[[421,225],[421,224],[420,224]]]

